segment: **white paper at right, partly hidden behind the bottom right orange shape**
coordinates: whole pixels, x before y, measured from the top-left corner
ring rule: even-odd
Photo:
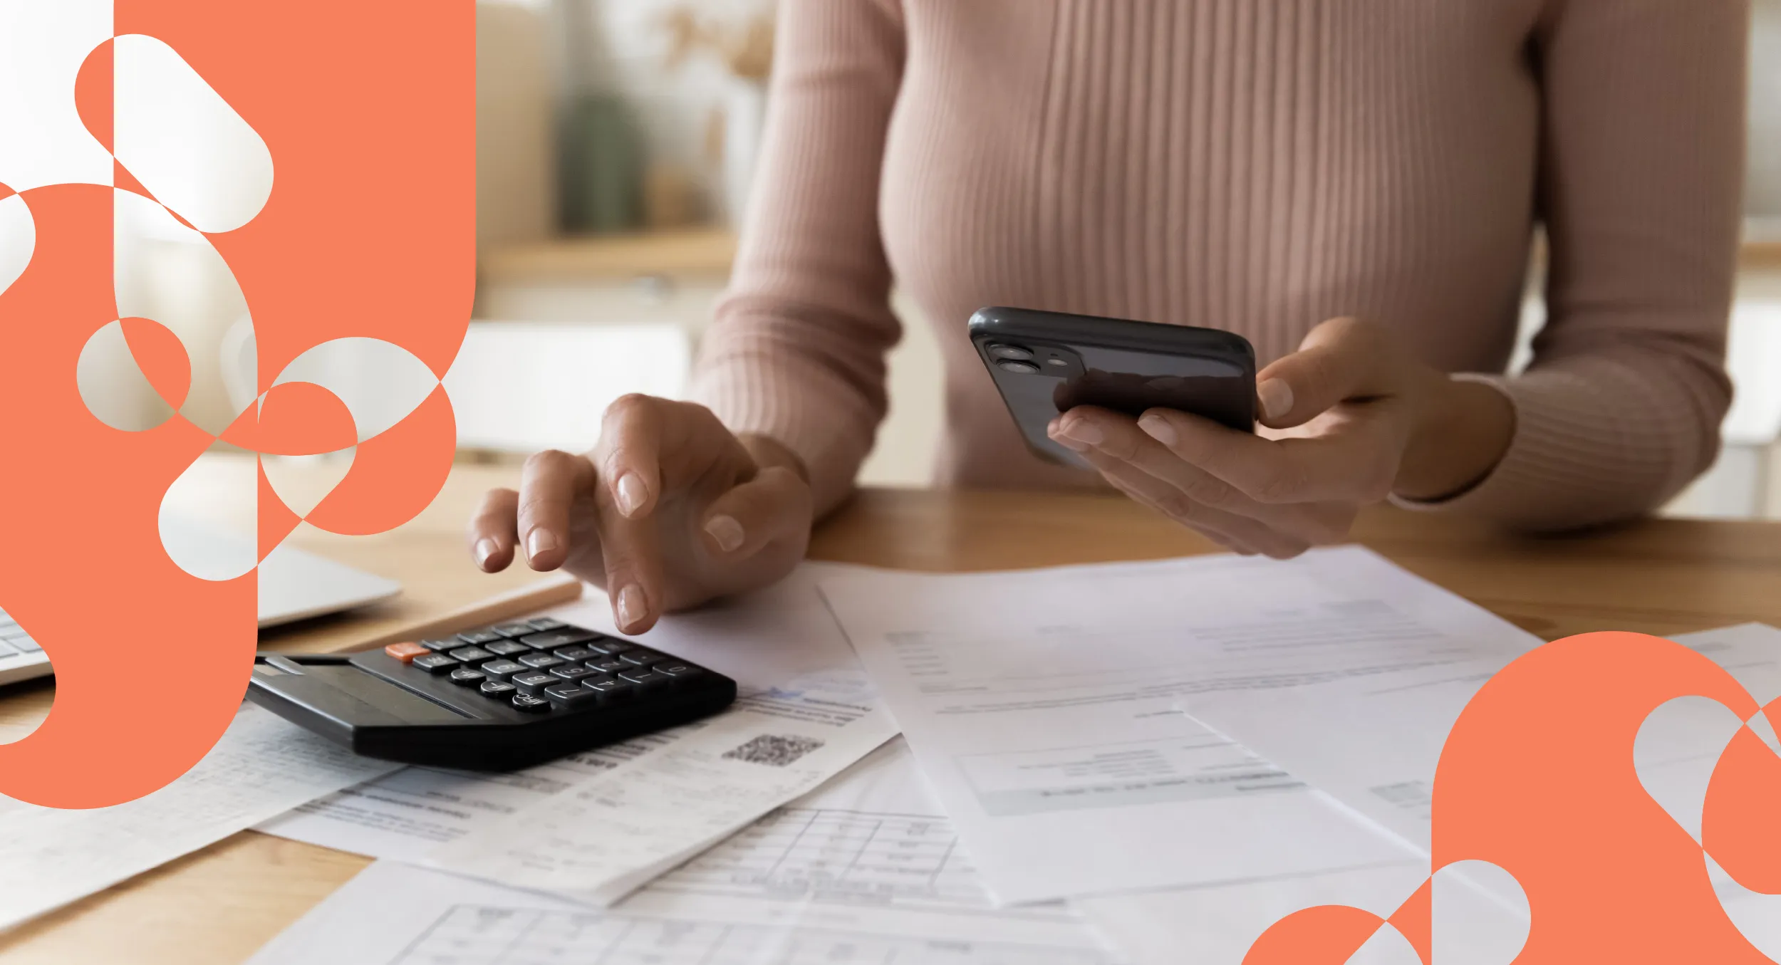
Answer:
[[[1758,703],[1781,696],[1781,630],[1745,625],[1678,636],[1676,643],[1726,668]],[[1507,664],[1487,661],[1277,691],[1191,694],[1181,707],[1427,853],[1441,748],[1466,703]],[[1697,707],[1669,707],[1662,714],[1667,726],[1642,735],[1640,773],[1660,803],[1672,791],[1694,785],[1681,778],[1696,764],[1704,760],[1712,773],[1729,737],[1720,734],[1715,709],[1704,698]],[[1658,778],[1653,787],[1651,774],[1665,771],[1676,780]],[[1699,791],[1704,792],[1704,783]]]

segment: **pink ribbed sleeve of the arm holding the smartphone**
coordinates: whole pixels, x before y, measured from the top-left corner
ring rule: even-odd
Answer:
[[[1498,468],[1437,504],[1519,529],[1662,506],[1719,452],[1744,164],[1747,0],[1555,0],[1539,205],[1548,322]]]

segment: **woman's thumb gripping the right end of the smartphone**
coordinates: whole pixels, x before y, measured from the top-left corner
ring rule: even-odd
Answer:
[[[1398,392],[1398,353],[1389,333],[1361,319],[1330,319],[1298,351],[1256,374],[1261,424],[1302,426],[1346,399]]]

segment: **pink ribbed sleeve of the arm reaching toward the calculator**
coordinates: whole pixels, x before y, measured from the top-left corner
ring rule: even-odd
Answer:
[[[693,397],[796,452],[817,515],[850,491],[885,415],[901,335],[878,230],[903,73],[896,0],[785,0],[741,249]]]

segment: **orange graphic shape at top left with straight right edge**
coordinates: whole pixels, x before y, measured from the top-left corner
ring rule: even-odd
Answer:
[[[210,237],[260,388],[353,337],[443,377],[476,285],[476,4],[118,0],[116,32],[173,46],[272,153],[265,208]]]

